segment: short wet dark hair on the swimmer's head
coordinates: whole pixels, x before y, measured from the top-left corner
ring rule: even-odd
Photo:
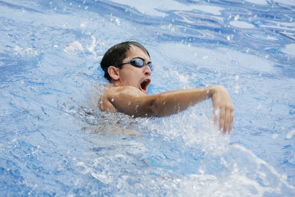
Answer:
[[[126,58],[131,46],[136,46],[140,48],[141,50],[146,52],[146,54],[150,58],[148,50],[138,42],[127,41],[116,44],[115,46],[112,46],[109,50],[107,50],[100,62],[100,67],[102,68],[102,70],[104,70],[104,77],[106,79],[108,79],[109,81],[112,80],[111,76],[109,75],[108,68],[110,66],[122,63],[123,60]],[[122,69],[122,65],[117,65],[116,67]]]

